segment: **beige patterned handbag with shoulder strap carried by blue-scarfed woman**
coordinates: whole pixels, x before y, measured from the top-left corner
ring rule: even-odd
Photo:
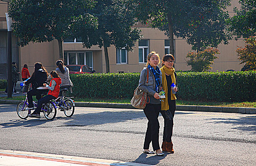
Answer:
[[[148,70],[148,68],[147,68]],[[147,72],[147,85],[148,85],[148,72]],[[148,102],[147,102],[148,97]],[[131,105],[138,109],[144,109],[146,107],[146,104],[148,104],[150,101],[150,98],[147,93],[142,92],[138,87],[134,90],[133,97],[131,99]]]

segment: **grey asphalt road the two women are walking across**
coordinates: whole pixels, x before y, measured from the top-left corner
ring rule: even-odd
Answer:
[[[71,118],[21,120],[0,104],[0,149],[121,160],[158,166],[255,166],[256,115],[176,111],[174,154],[142,154],[142,110],[76,107]],[[160,141],[163,118],[159,116]],[[161,146],[161,144],[160,144]],[[152,149],[152,148],[151,148]]]

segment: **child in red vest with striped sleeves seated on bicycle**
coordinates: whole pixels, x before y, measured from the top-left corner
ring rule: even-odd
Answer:
[[[29,117],[40,118],[40,111],[42,108],[42,104],[46,103],[52,99],[56,99],[59,96],[59,85],[61,84],[61,78],[57,74],[55,70],[50,72],[51,81],[50,84],[47,85],[46,83],[43,86],[49,89],[48,95],[44,96],[38,101],[36,110],[29,114]]]

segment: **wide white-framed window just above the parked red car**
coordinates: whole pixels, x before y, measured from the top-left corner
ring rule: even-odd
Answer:
[[[92,52],[64,52],[65,65],[88,65],[93,70]]]

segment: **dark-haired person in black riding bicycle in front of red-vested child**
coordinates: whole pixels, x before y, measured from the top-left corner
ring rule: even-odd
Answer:
[[[47,83],[47,71],[40,62],[35,63],[35,71],[27,81],[24,81],[26,85],[32,83],[32,89],[27,92],[29,106],[28,109],[35,109],[33,105],[32,96],[36,96],[37,100],[41,98],[43,93],[48,92],[48,88],[43,86],[43,83]]]

